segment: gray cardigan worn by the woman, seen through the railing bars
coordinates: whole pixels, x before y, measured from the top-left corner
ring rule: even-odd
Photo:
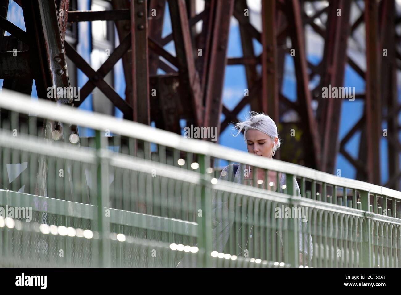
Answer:
[[[226,180],[226,181],[233,181],[236,183],[244,183],[244,175],[245,175],[245,169],[246,166],[244,164],[239,164],[238,169],[234,174],[234,165],[230,164],[228,166],[226,166],[223,171],[221,172],[220,175],[220,179]],[[280,191],[282,191],[281,187],[282,185],[286,184],[286,174],[282,173],[282,177],[280,180]],[[296,189],[297,189],[297,194],[298,197],[301,197],[301,192],[300,192],[300,188],[298,186],[298,183],[295,182],[296,185]],[[227,220],[223,220],[221,218],[221,214],[216,214],[217,212],[222,212],[223,210],[228,210],[227,208],[227,203],[220,201],[217,201],[215,198],[213,198],[212,201],[212,217],[213,217],[213,249],[217,252],[223,252],[223,249],[225,247],[225,244],[227,244],[227,240],[229,237],[229,233],[231,230],[231,226],[233,225],[233,220],[231,220],[230,222],[227,222]],[[217,211],[217,212],[216,212]],[[220,218],[219,218],[220,216]],[[303,253],[305,255],[304,257],[304,264],[307,262],[306,258],[309,256],[308,254],[310,253],[310,258],[312,258],[313,255],[313,242],[312,242],[312,236],[310,234],[306,234],[304,235],[304,240],[302,241],[302,220],[301,218],[298,218],[299,220],[299,252]],[[280,219],[279,219],[279,224],[280,224]],[[304,224],[306,226],[306,228],[308,228],[308,225],[305,223]],[[285,241],[283,239],[282,236],[282,231],[279,229],[277,231],[281,243],[282,245],[284,245]],[[303,246],[302,245],[309,245],[307,249],[305,249],[305,251],[303,251]],[[244,248],[245,245],[242,245],[241,248]],[[182,259],[177,267],[196,267],[196,261],[192,261],[190,262],[190,265],[188,265],[188,263],[186,263],[184,260],[186,259]],[[189,261],[188,261],[189,262]]]

